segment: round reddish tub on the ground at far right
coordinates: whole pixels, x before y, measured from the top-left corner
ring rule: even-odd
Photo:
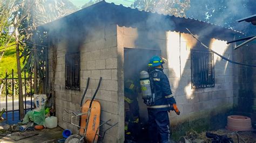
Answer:
[[[252,130],[251,118],[238,115],[228,116],[226,129],[231,131]]]

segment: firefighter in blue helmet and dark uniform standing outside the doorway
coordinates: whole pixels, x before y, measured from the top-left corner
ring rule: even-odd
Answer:
[[[149,113],[149,138],[150,142],[170,142],[170,121],[168,112],[174,110],[180,114],[168,77],[163,72],[163,59],[160,56],[153,56],[149,62],[148,73],[153,86],[154,104],[147,106]],[[157,132],[157,133],[156,133]]]

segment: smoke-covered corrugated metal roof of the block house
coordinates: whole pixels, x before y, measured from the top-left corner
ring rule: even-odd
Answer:
[[[217,39],[232,38],[234,34],[241,34],[241,32],[231,30],[230,28],[206,23],[197,19],[139,11],[138,9],[106,2],[93,4],[41,27],[46,28],[46,30],[63,30],[63,28],[66,30],[66,27],[71,28],[71,25],[72,28],[76,28],[76,26],[79,27],[81,24],[84,27],[85,25],[97,25],[104,22],[126,27],[138,27],[139,24],[144,24],[149,28],[161,28],[165,31],[179,31],[182,33],[187,33],[187,27],[194,34],[211,35]]]

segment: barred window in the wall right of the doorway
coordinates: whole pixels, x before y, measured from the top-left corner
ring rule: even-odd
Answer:
[[[214,57],[211,51],[191,49],[191,88],[214,87]]]

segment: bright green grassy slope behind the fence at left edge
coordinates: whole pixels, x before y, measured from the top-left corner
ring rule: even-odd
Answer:
[[[6,48],[4,56],[0,61],[0,78],[5,78],[5,72],[7,71],[9,77],[11,77],[11,70],[14,69],[14,77],[17,77],[17,61],[16,61],[16,47],[15,42],[11,42],[9,47]],[[2,55],[4,46],[0,47],[0,54]],[[21,59],[21,67],[23,58]]]

